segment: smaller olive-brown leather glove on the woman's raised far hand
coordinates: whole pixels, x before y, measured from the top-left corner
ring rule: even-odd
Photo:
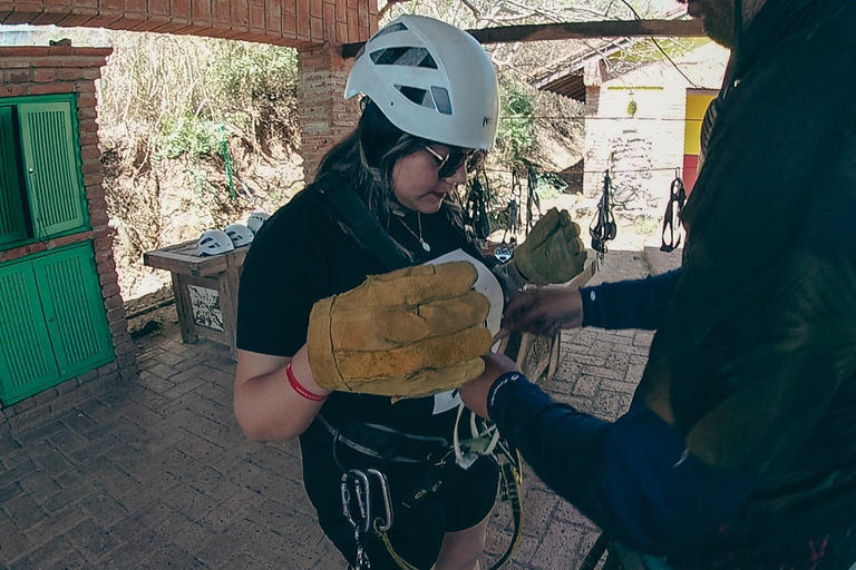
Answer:
[[[517,271],[535,285],[566,283],[585,266],[585,245],[580,226],[566,209],[549,208],[514,250]]]

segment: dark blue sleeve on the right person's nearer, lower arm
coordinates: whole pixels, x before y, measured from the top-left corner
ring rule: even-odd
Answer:
[[[641,552],[674,552],[716,532],[752,489],[687,456],[678,432],[643,405],[605,422],[508,373],[494,383],[488,412],[547,485]]]

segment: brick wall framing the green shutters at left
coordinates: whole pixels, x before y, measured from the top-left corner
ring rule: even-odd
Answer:
[[[95,80],[100,77],[100,68],[111,52],[110,48],[70,46],[0,48],[0,70],[2,70],[0,98],[77,94],[80,157],[91,226],[87,232],[0,252],[0,263],[69,244],[93,240],[104,305],[107,309],[116,354],[116,360],[109,364],[3,409],[0,423],[25,421],[27,416],[43,414],[47,409],[56,405],[51,401],[61,393],[78,391],[80,397],[84,397],[106,390],[106,386],[114,382],[133,375],[136,368],[134,344],[127,330],[114,263],[113,230],[108,226],[107,202],[104,186],[101,186],[104,179],[101,155],[98,150]],[[70,399],[62,400],[70,401]]]

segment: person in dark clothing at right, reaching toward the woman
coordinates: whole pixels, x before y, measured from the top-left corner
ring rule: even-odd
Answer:
[[[631,409],[597,420],[499,356],[461,397],[605,535],[660,557],[636,557],[640,568],[847,570],[856,2],[690,0],[688,10],[732,56],[702,129],[681,269],[527,291],[504,318],[537,333],[656,330]]]

